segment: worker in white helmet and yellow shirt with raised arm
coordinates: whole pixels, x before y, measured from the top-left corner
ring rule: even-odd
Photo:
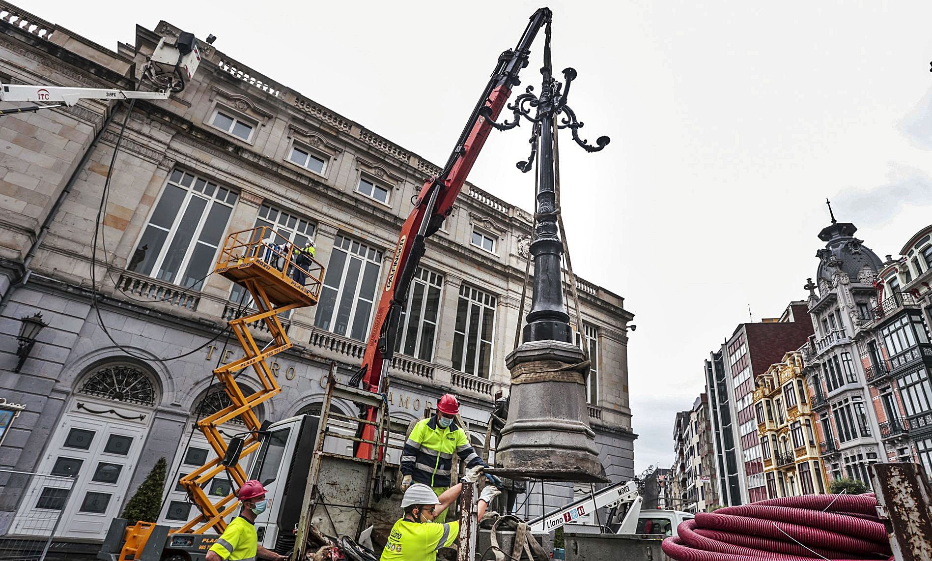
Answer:
[[[437,497],[433,489],[425,484],[413,484],[404,492],[402,509],[404,517],[391,526],[389,541],[382,550],[381,561],[435,561],[442,547],[450,547],[459,537],[459,522],[438,523],[446,514],[462,489],[456,484]],[[476,520],[481,520],[488,504],[500,494],[500,490],[487,484],[479,496]]]

